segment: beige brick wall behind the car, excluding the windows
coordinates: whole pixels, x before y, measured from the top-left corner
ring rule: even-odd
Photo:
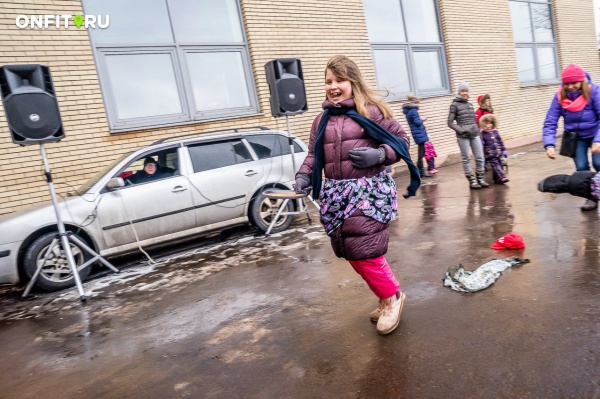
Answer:
[[[578,62],[600,80],[592,0],[554,2],[560,66]],[[159,129],[110,133],[94,58],[84,29],[18,29],[19,14],[76,14],[79,0],[0,0],[0,65],[40,63],[50,66],[66,137],[46,144],[57,192],[77,187],[117,156],[158,138],[229,127],[264,125],[286,129],[285,118],[272,118],[264,64],[274,58],[302,60],[309,111],[290,117],[292,132],[308,138],[310,124],[324,99],[324,66],[345,54],[361,67],[371,84],[375,74],[361,0],[241,0],[246,35],[262,114]],[[572,12],[575,8],[578,12]],[[489,93],[509,142],[539,140],[541,125],[556,85],[521,87],[517,76],[512,23],[507,0],[440,0],[452,93],[424,99],[422,116],[440,160],[458,153],[447,127],[448,107],[458,83],[471,85],[472,100]],[[468,12],[467,12],[468,11]],[[475,104],[474,104],[475,105]],[[402,102],[392,104],[408,128]],[[12,143],[0,110],[0,214],[49,199],[38,146]]]

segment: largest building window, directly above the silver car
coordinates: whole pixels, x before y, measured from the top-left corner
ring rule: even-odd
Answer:
[[[112,131],[258,112],[238,0],[83,0]]]

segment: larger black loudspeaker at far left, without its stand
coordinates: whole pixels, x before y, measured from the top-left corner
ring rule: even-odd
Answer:
[[[15,144],[60,141],[65,137],[50,68],[5,65],[0,68],[0,92]]]

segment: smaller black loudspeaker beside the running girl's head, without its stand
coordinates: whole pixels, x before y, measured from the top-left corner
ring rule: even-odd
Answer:
[[[271,114],[301,114],[308,111],[302,64],[297,58],[278,58],[265,64],[271,92]]]

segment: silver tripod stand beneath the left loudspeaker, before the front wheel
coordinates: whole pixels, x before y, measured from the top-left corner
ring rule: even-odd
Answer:
[[[37,269],[36,269],[35,273],[33,274],[33,276],[31,277],[31,280],[29,281],[27,288],[25,288],[25,292],[23,292],[22,298],[25,298],[29,295],[29,292],[35,285],[35,282],[38,279],[40,273],[42,272],[42,269],[46,265],[46,262],[54,254],[54,252],[53,252],[54,247],[58,245],[59,249],[62,246],[62,250],[67,258],[67,262],[69,263],[69,268],[71,269],[71,273],[73,274],[73,279],[75,280],[75,285],[77,286],[77,291],[79,292],[79,299],[81,299],[81,302],[85,302],[87,300],[87,297],[85,296],[85,292],[83,291],[83,285],[81,284],[81,278],[79,277],[79,270],[83,270],[85,267],[91,265],[96,260],[99,260],[100,262],[102,262],[102,264],[104,266],[108,267],[115,273],[119,273],[119,269],[117,269],[116,267],[111,265],[106,259],[104,259],[98,253],[96,253],[94,250],[92,250],[89,246],[87,246],[84,242],[82,242],[75,235],[73,235],[72,233],[67,232],[65,230],[65,225],[60,217],[60,211],[58,209],[58,201],[56,200],[56,192],[54,190],[54,183],[52,182],[52,175],[50,174],[50,166],[48,165],[48,158],[46,157],[46,149],[44,148],[43,143],[40,143],[40,151],[42,152],[42,161],[44,162],[44,174],[46,176],[46,182],[48,183],[48,187],[50,189],[50,196],[52,197],[52,205],[54,206],[54,212],[56,213],[56,225],[58,227],[58,233],[56,234],[56,237],[54,237],[54,239],[52,240],[52,243],[50,243],[50,245],[48,246],[48,249],[46,250],[46,253],[44,254],[44,259],[41,262],[38,261]],[[73,252],[71,251],[71,244],[69,241],[72,242],[73,244],[77,245],[84,251],[87,251],[90,255],[93,255],[91,259],[89,259],[88,261],[83,263],[81,266],[79,266],[79,268],[75,264],[75,259],[73,258]]]

